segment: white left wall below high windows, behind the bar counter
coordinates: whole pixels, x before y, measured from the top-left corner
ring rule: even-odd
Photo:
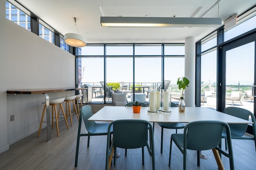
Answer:
[[[4,8],[5,4],[0,6]],[[75,57],[5,19],[5,8],[0,11],[0,23],[5,23],[1,24],[0,35],[6,35],[0,45],[1,153],[8,149],[6,146],[38,131],[45,101],[43,94],[6,95],[6,90],[75,87]],[[57,92],[49,96],[53,100],[74,94]],[[14,121],[10,121],[10,115],[14,115]]]

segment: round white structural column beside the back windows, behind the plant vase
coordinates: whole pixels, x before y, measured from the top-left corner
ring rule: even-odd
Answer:
[[[185,39],[185,77],[190,81],[185,89],[186,107],[195,107],[195,76],[196,76],[196,41],[195,37]]]

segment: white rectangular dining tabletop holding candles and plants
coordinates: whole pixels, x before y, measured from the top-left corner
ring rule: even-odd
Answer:
[[[178,107],[172,107],[171,113],[158,111],[148,112],[148,107],[141,107],[140,113],[133,113],[132,107],[104,106],[88,120],[114,121],[119,119],[144,119],[150,122],[182,122],[199,120],[218,120],[226,123],[252,123],[206,107],[186,107],[185,113],[179,113]]]

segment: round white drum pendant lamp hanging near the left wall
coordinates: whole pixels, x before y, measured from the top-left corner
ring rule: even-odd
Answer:
[[[66,33],[64,35],[64,41],[68,45],[71,45],[73,47],[84,47],[86,46],[86,39],[78,34],[78,27],[76,25],[77,18],[73,18],[76,26],[76,32],[77,33]]]

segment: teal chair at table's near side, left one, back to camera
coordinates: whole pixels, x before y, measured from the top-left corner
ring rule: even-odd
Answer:
[[[148,145],[148,126],[150,127],[150,145]],[[113,139],[111,141],[111,132],[113,128]],[[116,148],[136,149],[142,148],[142,165],[144,165],[144,147],[148,148],[152,156],[152,169],[155,170],[154,156],[154,132],[152,125],[146,120],[122,119],[112,121],[108,126],[108,139],[106,149],[106,170],[109,166],[109,158],[112,158],[114,149],[114,165],[116,164]]]

